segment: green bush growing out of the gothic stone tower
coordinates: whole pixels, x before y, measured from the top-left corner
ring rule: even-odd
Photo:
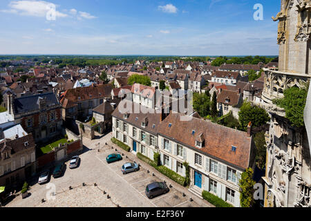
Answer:
[[[307,102],[308,87],[309,85],[303,88],[288,88],[284,90],[284,97],[282,99],[275,99],[273,101],[274,104],[285,109],[285,117],[297,127],[305,125],[303,111],[305,109],[305,103]]]

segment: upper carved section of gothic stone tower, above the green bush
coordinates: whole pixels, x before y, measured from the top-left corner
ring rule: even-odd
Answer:
[[[279,70],[265,69],[263,100],[270,104],[311,77],[311,1],[281,0],[281,12],[272,19],[279,21]]]

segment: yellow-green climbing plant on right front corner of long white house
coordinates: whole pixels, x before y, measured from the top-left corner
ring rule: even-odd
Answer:
[[[240,202],[241,207],[252,207],[254,206],[254,185],[256,182],[253,180],[252,168],[246,169],[241,175],[241,180],[238,185],[241,188]]]

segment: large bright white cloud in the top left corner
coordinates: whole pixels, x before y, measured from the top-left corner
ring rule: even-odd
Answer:
[[[29,15],[35,17],[46,17],[55,4],[48,1],[11,1],[8,5],[10,9],[1,12],[14,13],[19,15]],[[55,6],[56,8],[56,6]],[[56,17],[67,17],[68,15],[55,11]]]

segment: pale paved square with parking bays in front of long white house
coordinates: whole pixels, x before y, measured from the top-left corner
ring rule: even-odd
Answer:
[[[84,153],[80,155],[80,166],[77,169],[69,169],[69,162],[66,162],[64,176],[57,179],[51,177],[49,184],[55,184],[56,187],[55,200],[47,200],[46,193],[50,191],[46,189],[48,184],[35,184],[30,187],[29,192],[31,195],[28,198],[22,200],[21,195],[18,195],[15,200],[6,206],[211,206],[208,202],[196,198],[184,187],[169,181],[169,178],[164,177],[148,164],[138,160],[135,155],[126,153],[112,144],[110,138],[111,134],[93,141],[84,138]],[[98,151],[98,143],[100,143],[100,151]],[[106,146],[105,143],[108,145]],[[115,148],[117,148],[117,151],[115,151]],[[123,160],[107,164],[105,158],[111,153],[123,153]],[[126,158],[126,155],[128,158]],[[121,166],[125,162],[133,162],[134,160],[140,163],[140,171],[123,175],[120,171]],[[153,176],[152,173],[155,175]],[[144,193],[147,184],[163,180],[166,180],[168,186],[169,184],[172,185],[169,193],[149,200]],[[86,186],[82,186],[82,183],[85,183]],[[73,189],[70,190],[69,186],[72,186]],[[106,194],[104,194],[104,191]],[[186,195],[183,196],[182,193]],[[107,198],[107,195],[111,198]],[[191,202],[190,198],[193,198],[194,201]],[[41,199],[45,199],[46,202],[41,202]]]

